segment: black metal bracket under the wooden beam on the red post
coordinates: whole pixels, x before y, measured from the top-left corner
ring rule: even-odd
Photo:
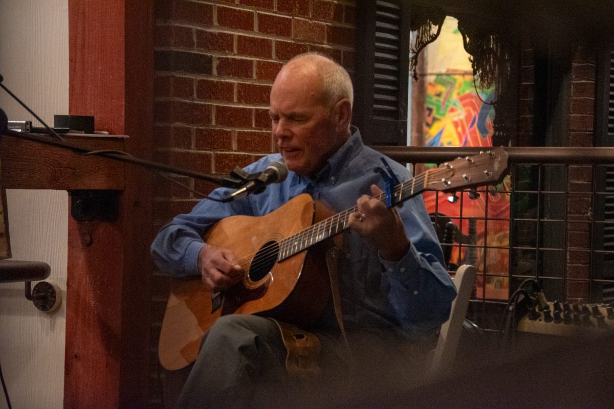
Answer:
[[[76,221],[116,221],[119,216],[119,190],[69,190],[71,216]]]

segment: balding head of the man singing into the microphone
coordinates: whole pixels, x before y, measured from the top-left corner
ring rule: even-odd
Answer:
[[[289,61],[271,88],[271,129],[288,169],[314,177],[350,136],[348,73],[317,54]]]

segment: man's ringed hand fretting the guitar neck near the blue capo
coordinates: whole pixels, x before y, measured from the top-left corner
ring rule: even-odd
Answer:
[[[349,226],[365,237],[379,251],[383,259],[398,261],[410,248],[403,222],[395,208],[387,208],[378,199],[383,192],[371,185],[371,194],[364,194],[356,201],[357,212],[349,215]]]

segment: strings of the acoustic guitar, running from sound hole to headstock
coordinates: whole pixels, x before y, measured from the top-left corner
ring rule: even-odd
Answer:
[[[467,163],[472,163],[472,162],[467,162]],[[474,166],[476,165],[475,159],[473,161],[473,165]],[[398,185],[394,186],[394,191],[391,192],[391,195],[394,197],[394,196],[397,196],[397,194],[399,194],[400,195],[399,198],[401,198],[403,194],[407,193],[407,191],[411,190],[413,193],[413,189],[414,189],[414,186],[416,185],[416,182],[418,182],[419,186],[423,185],[424,180],[426,179],[427,176],[432,177],[431,178],[432,181],[429,181],[427,185],[443,183],[445,181],[445,178],[438,178],[438,177],[443,174],[448,173],[449,170],[450,169],[446,167],[437,167],[432,170],[427,170],[427,172],[424,172],[424,174],[418,175],[414,177],[413,179],[408,180],[407,182],[399,183]],[[462,165],[459,166],[459,169],[456,169],[456,170],[462,170]],[[411,184],[411,188],[409,186],[410,184]],[[405,185],[408,185],[407,188],[405,188]],[[426,188],[427,186],[424,186],[422,190]],[[381,193],[378,196],[373,196],[373,197],[376,197],[379,201],[384,201],[386,200],[387,195],[386,193]],[[252,254],[245,256],[244,258],[241,258],[239,260],[239,265],[241,265],[243,269],[247,270],[250,267],[249,261],[253,257],[254,260],[251,262],[251,269],[249,270],[258,270],[258,269],[261,269],[262,267],[267,267],[270,264],[274,264],[276,259],[278,259],[278,254],[282,251],[286,251],[288,253],[287,255],[293,255],[293,254],[299,253],[300,251],[305,250],[305,248],[308,248],[309,246],[313,244],[314,233],[316,233],[315,242],[318,243],[324,239],[327,239],[328,237],[331,237],[332,235],[340,231],[343,231],[345,229],[346,221],[348,220],[348,216],[351,213],[356,212],[357,210],[358,210],[357,206],[346,209],[343,212],[330,216],[329,218],[322,220],[316,224],[312,224],[306,229],[303,229],[303,231],[300,231],[296,234],[293,234],[290,237],[286,237],[285,239],[282,239],[281,242],[279,243],[274,242],[271,245],[260,248],[260,250],[258,250],[256,253],[252,253]],[[339,229],[341,220],[343,220],[343,227]],[[331,229],[333,227],[335,227],[335,232],[331,233]],[[323,236],[321,239],[319,239],[319,236],[321,234],[323,234]],[[309,239],[311,239],[311,243],[309,243],[308,245],[307,243]],[[294,244],[291,244],[290,241]]]

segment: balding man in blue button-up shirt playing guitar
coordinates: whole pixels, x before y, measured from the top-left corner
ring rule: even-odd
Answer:
[[[231,250],[203,243],[201,237],[212,224],[232,215],[266,215],[301,193],[335,212],[356,205],[338,268],[350,351],[333,308],[328,308],[308,328],[321,341],[324,373],[320,395],[308,407],[324,404],[318,399],[328,399],[327,395],[349,399],[363,386],[378,389],[384,381],[400,382],[401,375],[411,372],[413,346],[448,319],[456,296],[421,197],[398,209],[371,197],[385,186],[374,172],[383,166],[383,156],[365,147],[358,129],[350,125],[352,99],[351,80],[341,66],[311,53],[293,58],[271,89],[271,127],[279,153],[246,168],[258,172],[282,159],[290,171],[286,180],[230,204],[203,200],[191,213],[163,227],[152,245],[160,269],[201,275],[211,291],[223,291],[245,272]],[[405,167],[387,162],[401,182],[410,179]],[[222,198],[231,192],[220,188],[211,196]],[[262,385],[288,384],[285,357],[274,321],[255,315],[222,316],[204,337],[178,407],[245,405],[260,392],[275,390]],[[273,406],[266,400],[258,404]]]

